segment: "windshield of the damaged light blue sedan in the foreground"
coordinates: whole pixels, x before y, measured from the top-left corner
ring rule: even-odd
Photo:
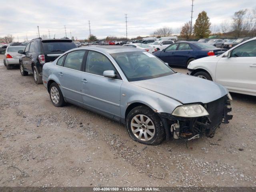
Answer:
[[[128,81],[140,81],[174,74],[160,59],[148,52],[123,52],[111,56],[116,60]]]

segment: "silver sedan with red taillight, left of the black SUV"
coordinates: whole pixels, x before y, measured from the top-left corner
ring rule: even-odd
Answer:
[[[25,46],[8,46],[4,54],[4,65],[7,69],[11,69],[12,65],[20,64],[20,57],[22,54],[19,54],[19,50],[24,50]]]

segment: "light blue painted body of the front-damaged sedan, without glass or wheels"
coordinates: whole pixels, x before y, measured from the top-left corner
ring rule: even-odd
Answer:
[[[121,122],[125,122],[125,112],[128,106],[136,102],[149,106],[155,112],[172,113],[177,106],[182,104],[207,103],[228,93],[226,88],[219,84],[179,73],[149,80],[128,82],[110,54],[143,50],[137,48],[104,49],[93,46],[73,50],[81,49],[95,50],[107,56],[122,80],[57,66],[58,59],[56,59],[54,62],[46,63],[43,66],[44,86],[47,88],[47,83],[53,80],[59,84],[66,101]],[[70,51],[72,50],[66,53]],[[59,75],[64,70],[68,70],[68,74],[70,74],[69,83],[65,84],[68,87],[65,87],[60,80],[65,77],[65,74],[61,77]],[[71,76],[72,73],[73,77]],[[76,78],[74,78],[74,74],[76,74]],[[84,79],[87,82],[83,82]],[[79,86],[80,90],[78,89]]]

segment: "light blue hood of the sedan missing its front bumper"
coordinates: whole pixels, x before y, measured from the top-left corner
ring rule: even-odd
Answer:
[[[208,103],[228,93],[220,84],[180,73],[131,83],[182,104]]]

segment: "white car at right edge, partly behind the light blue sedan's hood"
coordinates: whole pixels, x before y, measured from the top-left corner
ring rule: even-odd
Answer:
[[[220,83],[230,92],[256,96],[256,37],[219,56],[194,60],[188,71],[190,75]]]

